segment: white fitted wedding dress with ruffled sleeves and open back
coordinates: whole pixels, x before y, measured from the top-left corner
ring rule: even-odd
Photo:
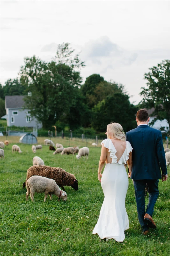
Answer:
[[[128,175],[124,164],[129,159],[132,151],[131,144],[126,142],[126,149],[117,162],[116,149],[111,139],[105,139],[101,144],[109,149],[111,164],[106,164],[101,186],[104,193],[104,201],[100,210],[99,219],[93,230],[93,234],[98,234],[101,239],[115,239],[123,242],[125,239],[124,230],[129,228],[128,215],[125,208],[125,198],[128,190]]]

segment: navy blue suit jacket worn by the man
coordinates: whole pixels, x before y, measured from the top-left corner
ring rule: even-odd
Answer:
[[[126,140],[133,148],[131,179],[161,179],[160,168],[167,174],[161,131],[140,125],[126,133]]]

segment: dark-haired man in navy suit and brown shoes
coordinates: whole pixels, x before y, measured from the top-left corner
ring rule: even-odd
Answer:
[[[148,126],[149,119],[146,109],[140,109],[136,114],[137,128],[126,133],[126,140],[133,148],[129,176],[134,181],[137,213],[144,235],[149,228],[156,228],[152,215],[159,195],[158,182],[168,178],[162,134]],[[149,203],[145,209],[146,184],[149,187]]]

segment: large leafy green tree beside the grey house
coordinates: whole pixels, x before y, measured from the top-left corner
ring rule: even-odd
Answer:
[[[42,122],[43,128],[65,120],[76,95],[74,90],[82,82],[78,69],[84,63],[73,52],[68,43],[62,44],[53,61],[46,63],[33,56],[25,58],[21,67],[21,83],[31,95],[25,97],[25,108]]]

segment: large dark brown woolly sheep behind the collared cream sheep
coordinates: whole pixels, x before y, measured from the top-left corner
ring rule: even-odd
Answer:
[[[78,181],[75,176],[69,172],[66,172],[59,167],[49,167],[44,165],[34,165],[27,170],[26,182],[34,175],[43,176],[55,180],[59,187],[65,191],[63,186],[71,186],[74,190],[78,190]],[[26,182],[23,183],[23,188],[26,186]]]

